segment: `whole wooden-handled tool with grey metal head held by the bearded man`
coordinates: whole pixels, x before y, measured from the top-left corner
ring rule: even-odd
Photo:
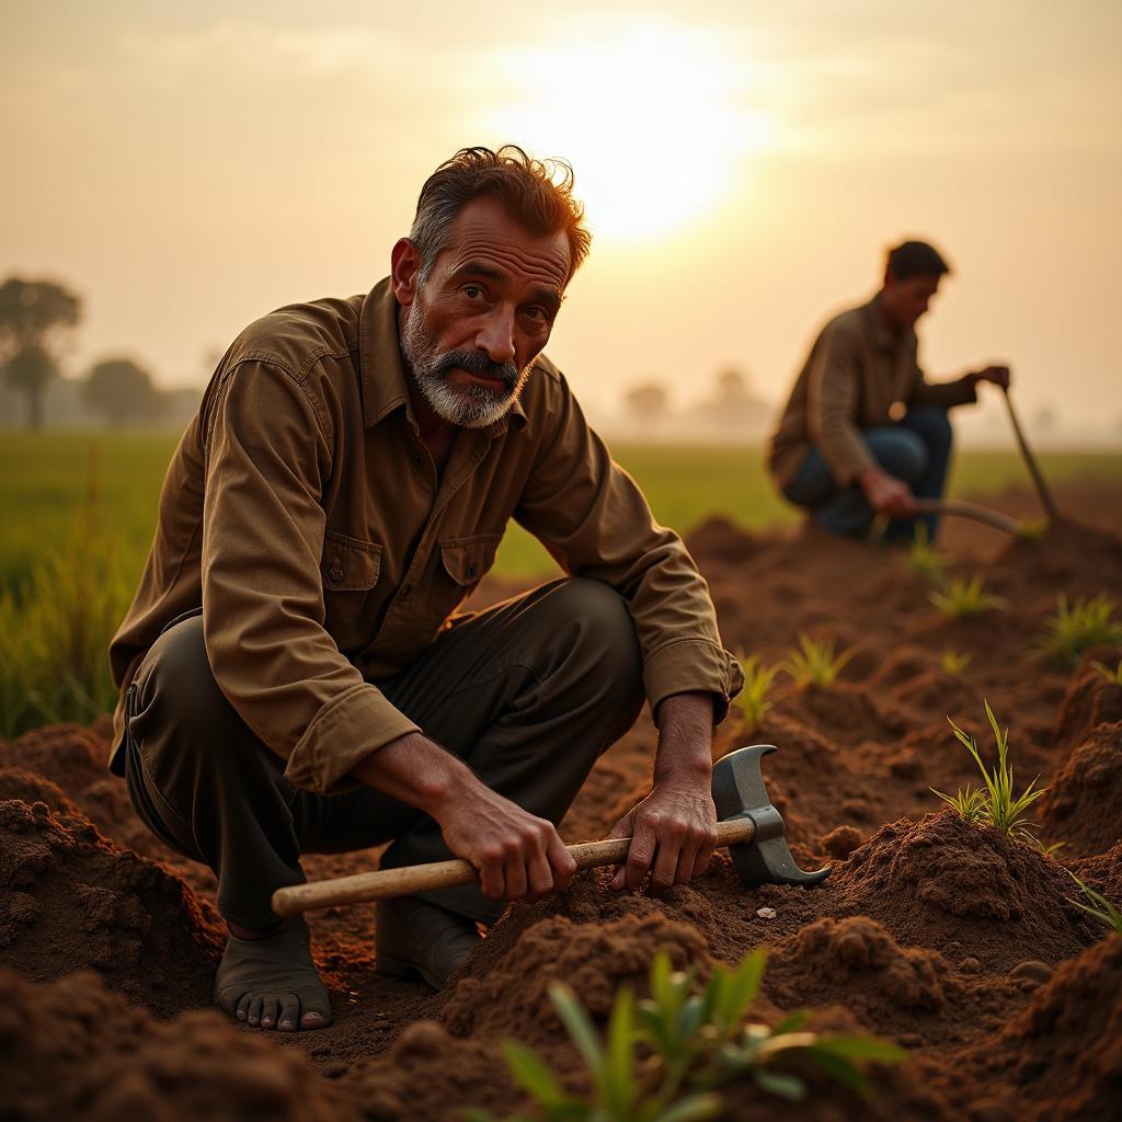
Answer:
[[[783,818],[772,806],[764,787],[760,761],[773,744],[737,748],[712,769],[712,798],[717,806],[717,845],[728,846],[733,867],[746,888],[760,884],[817,884],[829,876],[829,866],[812,873],[795,864],[787,845]],[[568,847],[578,868],[615,865],[627,857],[631,838],[583,842]],[[430,865],[357,873],[330,881],[312,881],[277,889],[273,910],[278,916],[334,904],[356,904],[389,896],[407,896],[436,889],[475,884],[479,875],[466,861],[441,861]]]

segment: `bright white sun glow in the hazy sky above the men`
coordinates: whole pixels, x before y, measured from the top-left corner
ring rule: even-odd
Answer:
[[[707,217],[746,188],[745,155],[771,136],[753,72],[714,33],[665,22],[589,25],[580,42],[518,52],[490,135],[576,172],[595,236],[633,241]]]

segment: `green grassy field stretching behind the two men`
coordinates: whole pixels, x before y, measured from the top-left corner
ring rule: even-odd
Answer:
[[[139,578],[164,469],[166,433],[0,434],[0,736],[112,707],[105,646]],[[767,484],[757,448],[618,444],[655,517],[689,532],[720,514],[748,526],[795,513]],[[1122,479],[1122,454],[1046,453],[1049,479]],[[951,491],[984,495],[1024,479],[1017,453],[959,456]],[[496,569],[549,573],[542,548],[513,526]]]

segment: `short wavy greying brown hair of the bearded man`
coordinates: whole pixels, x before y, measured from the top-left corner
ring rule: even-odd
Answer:
[[[461,148],[444,160],[421,188],[410,238],[421,255],[423,284],[436,255],[448,245],[452,222],[472,199],[489,196],[531,233],[564,231],[569,239],[569,276],[588,256],[592,240],[585,229],[585,208],[572,196],[572,168],[563,159],[533,159],[516,145]]]

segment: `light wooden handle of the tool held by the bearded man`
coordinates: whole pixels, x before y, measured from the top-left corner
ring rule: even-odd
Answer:
[[[737,845],[751,842],[756,835],[751,818],[730,818],[717,824],[717,845]],[[581,842],[565,846],[578,868],[597,868],[617,865],[627,857],[631,838],[607,838],[604,842]],[[407,865],[384,868],[375,873],[356,873],[331,881],[310,881],[277,889],[273,893],[273,910],[278,916],[333,904],[357,904],[367,900],[386,900],[389,896],[408,896],[435,889],[454,889],[461,884],[476,884],[479,874],[467,861],[438,861],[431,865]]]

